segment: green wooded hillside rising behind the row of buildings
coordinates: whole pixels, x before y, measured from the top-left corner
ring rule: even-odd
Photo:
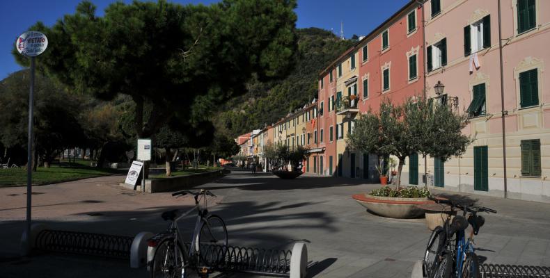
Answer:
[[[237,135],[272,124],[317,97],[318,74],[352,47],[354,40],[340,40],[320,28],[297,30],[299,58],[294,70],[281,81],[251,81],[248,92],[226,103],[214,117],[219,131]]]

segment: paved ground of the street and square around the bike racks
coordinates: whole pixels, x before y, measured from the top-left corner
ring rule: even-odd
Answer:
[[[40,221],[55,229],[134,235],[161,231],[166,227],[159,218],[161,211],[190,204],[188,198],[174,200],[168,194],[139,194],[113,186],[119,178],[123,179],[33,188],[45,192],[33,196],[38,205],[33,211],[38,216],[48,209]],[[234,171],[201,188],[220,196],[211,211],[226,220],[231,245],[285,248],[306,242],[309,277],[410,277],[411,266],[421,259],[429,236],[423,219],[380,218],[356,204],[352,194],[377,188],[360,180],[300,177],[285,181]],[[74,277],[77,273],[82,277],[146,277],[144,270],[131,270],[123,261],[57,254],[15,257],[24,219],[24,210],[18,207],[24,202],[6,206],[8,198],[18,197],[8,196],[17,193],[7,190],[14,189],[0,189],[0,246],[6,246],[0,250],[0,277]],[[64,199],[39,201],[40,196],[54,193],[63,193]],[[73,197],[80,197],[78,205]],[[485,262],[550,265],[550,204],[473,198],[498,211],[486,215],[476,238],[478,254]],[[86,200],[101,202],[82,202]],[[14,210],[22,213],[17,215]],[[97,216],[88,215],[91,211]],[[10,215],[9,220],[4,215]],[[188,221],[185,224],[190,226]]]

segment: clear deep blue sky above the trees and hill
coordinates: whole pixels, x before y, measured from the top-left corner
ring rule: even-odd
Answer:
[[[123,0],[130,3],[131,0]],[[174,3],[208,5],[217,0],[168,0]],[[15,63],[11,50],[17,37],[29,26],[41,21],[47,26],[55,24],[65,14],[72,14],[78,0],[0,0],[0,80],[22,67]],[[97,14],[114,0],[91,0],[97,6]],[[295,10],[298,15],[297,28],[317,27],[332,30],[340,35],[343,22],[345,38],[352,35],[366,35],[397,12],[408,0],[298,0]],[[49,44],[55,43],[52,41]],[[46,50],[47,51],[47,50]],[[37,58],[37,63],[40,56]]]

